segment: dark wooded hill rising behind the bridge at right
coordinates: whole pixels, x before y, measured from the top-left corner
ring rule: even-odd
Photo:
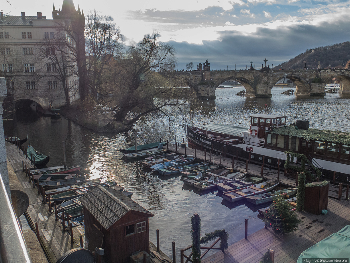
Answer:
[[[332,46],[307,49],[288,62],[283,62],[274,69],[305,68],[349,68],[350,42]]]

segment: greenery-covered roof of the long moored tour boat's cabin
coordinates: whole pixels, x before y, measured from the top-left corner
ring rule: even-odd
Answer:
[[[295,126],[275,128],[271,133],[304,138],[307,141],[327,141],[350,145],[350,133],[338,130],[295,129]]]

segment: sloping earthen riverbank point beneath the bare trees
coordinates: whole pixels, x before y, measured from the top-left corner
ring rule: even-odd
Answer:
[[[77,104],[72,104],[69,108],[66,106],[62,107],[61,114],[66,119],[98,133],[122,133],[132,128],[122,122],[115,121],[114,114],[105,111],[103,108],[87,111],[80,109]]]

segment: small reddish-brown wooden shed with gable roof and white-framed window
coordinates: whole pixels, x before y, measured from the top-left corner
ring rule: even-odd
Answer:
[[[90,250],[94,250],[90,242],[103,234],[102,248],[110,263],[130,262],[137,251],[149,254],[148,218],[153,217],[152,213],[120,191],[103,186],[94,187],[79,200],[84,205]]]

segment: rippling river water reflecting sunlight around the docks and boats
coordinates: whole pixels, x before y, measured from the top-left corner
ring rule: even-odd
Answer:
[[[174,143],[175,136],[178,142],[182,142],[185,131],[181,126],[183,118],[189,121],[190,110],[194,114],[194,124],[200,126],[221,123],[249,127],[249,116],[261,113],[286,115],[290,122],[305,118],[310,121],[311,128],[350,129],[350,99],[343,99],[339,94],[297,99],[294,95],[281,95],[289,88],[274,87],[272,98],[249,99],[235,96],[241,88],[218,88],[217,99],[202,100],[199,106],[188,108],[185,114],[169,109],[174,126],[169,126],[165,117],[148,116],[140,120],[135,126],[141,133],[138,143],[149,143],[159,138]],[[226,203],[216,193],[200,195],[184,186],[180,176],[162,178],[143,170],[139,161],[120,160],[122,153],[118,149],[133,145],[133,131],[97,134],[64,118],[38,117],[27,109],[20,111],[14,120],[4,121],[4,131],[20,138],[29,134],[35,149],[45,155],[50,153],[49,166],[63,164],[62,141],[65,141],[67,165],[80,164],[91,178],[112,179],[131,191],[132,199],[154,214],[149,219],[150,240],[156,243],[156,229],[159,229],[161,250],[171,257],[172,242],[175,241],[177,260],[180,260],[180,249],[191,245],[190,217],[194,213],[201,217],[202,235],[226,229],[229,245],[244,238],[245,218],[250,219],[248,235],[264,227],[256,217],[258,207],[244,202]]]

